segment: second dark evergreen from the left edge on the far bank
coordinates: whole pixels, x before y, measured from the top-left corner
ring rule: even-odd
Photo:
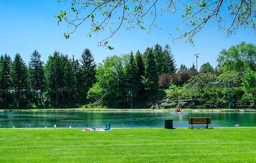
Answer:
[[[24,63],[22,57],[19,54],[16,54],[12,64],[12,82],[15,91],[17,106],[20,106],[22,100],[24,102],[24,95],[28,86],[27,71],[27,66]]]

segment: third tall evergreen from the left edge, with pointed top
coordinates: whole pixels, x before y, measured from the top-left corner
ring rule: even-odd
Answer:
[[[42,94],[45,91],[45,72],[44,61],[40,60],[41,55],[35,50],[30,58],[29,62],[29,82],[31,88],[36,91],[36,105],[38,104],[38,92],[40,91],[41,99]]]

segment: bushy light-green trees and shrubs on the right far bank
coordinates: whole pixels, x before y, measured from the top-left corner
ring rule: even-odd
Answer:
[[[207,62],[201,66],[198,75],[192,68],[181,71],[184,69],[181,66],[176,74],[170,76],[168,97],[192,98],[199,101],[204,108],[206,105],[227,107],[229,91],[231,107],[255,105],[256,46],[241,42],[228,50],[222,50],[217,61],[215,70]],[[166,85],[162,78],[160,77],[160,85]]]

